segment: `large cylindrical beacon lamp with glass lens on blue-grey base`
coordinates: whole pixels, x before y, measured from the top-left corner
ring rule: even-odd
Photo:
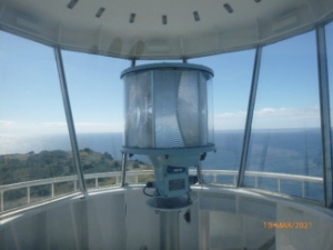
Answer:
[[[190,63],[154,63],[129,68],[121,78],[122,153],[148,156],[154,168],[154,182],[144,187],[153,188],[153,194],[143,190],[152,197],[147,203],[160,211],[190,207],[190,184],[198,178],[189,176],[189,167],[200,166],[206,152],[215,151],[213,71]]]

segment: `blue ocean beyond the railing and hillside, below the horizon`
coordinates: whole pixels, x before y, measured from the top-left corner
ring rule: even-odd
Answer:
[[[122,133],[79,133],[80,149],[89,148],[97,152],[109,152],[121,160]],[[69,137],[65,134],[40,137],[1,137],[0,154],[40,152],[42,150],[71,150]],[[238,170],[243,143],[242,131],[215,131],[216,152],[209,152],[202,161],[206,170]],[[149,162],[144,156],[134,156]],[[246,171],[289,173],[311,177],[323,177],[322,143],[320,129],[256,130],[251,134]],[[205,177],[212,180],[212,176]],[[276,184],[260,178],[259,187],[275,190]],[[232,182],[232,177],[219,177],[218,181]],[[253,178],[245,178],[246,186],[254,186]],[[286,182],[286,186],[289,183]],[[310,197],[322,200],[322,184],[309,183],[306,189],[315,190]],[[290,187],[291,194],[293,194]],[[299,191],[296,193],[299,196]]]

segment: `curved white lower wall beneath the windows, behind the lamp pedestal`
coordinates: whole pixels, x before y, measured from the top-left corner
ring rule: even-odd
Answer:
[[[2,219],[1,248],[159,249],[161,221],[141,189],[77,196]],[[180,249],[332,248],[332,212],[316,204],[211,186],[193,194],[200,201],[191,221],[179,213]]]

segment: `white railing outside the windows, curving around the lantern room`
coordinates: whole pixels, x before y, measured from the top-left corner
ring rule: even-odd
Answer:
[[[203,170],[204,176],[212,176],[213,182],[218,182],[218,177],[229,176],[233,177],[233,183],[236,183],[236,178],[239,172],[232,170]],[[195,170],[190,170],[190,173],[196,173]],[[128,171],[127,177],[134,177],[134,183],[139,183],[140,176],[149,176],[153,174],[153,170],[139,170],[139,171]],[[302,197],[305,198],[305,183],[323,183],[322,178],[317,177],[305,177],[305,176],[295,176],[295,174],[285,174],[285,173],[269,173],[269,172],[254,172],[254,171],[245,171],[246,177],[254,177],[254,188],[259,187],[259,178],[271,178],[275,179],[278,183],[278,192],[281,192],[281,180],[294,180],[300,181],[302,183]],[[99,179],[100,178],[115,178],[115,184],[121,183],[121,172],[102,172],[102,173],[90,173],[84,174],[85,180],[94,180],[94,188],[99,188]],[[73,192],[78,191],[78,177],[77,176],[68,176],[68,177],[58,177],[34,181],[27,181],[7,186],[0,186],[0,212],[4,211],[4,192],[17,189],[27,189],[27,204],[31,203],[30,200],[30,188],[39,187],[44,184],[51,186],[51,197],[54,198],[54,184],[62,182],[73,182]]]

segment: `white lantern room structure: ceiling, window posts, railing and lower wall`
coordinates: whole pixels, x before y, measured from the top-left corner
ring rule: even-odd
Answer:
[[[1,30],[54,48],[78,169],[78,177],[64,177],[62,181],[78,179],[80,190],[20,210],[2,212],[1,203],[1,249],[158,249],[160,246],[162,220],[145,206],[142,186],[87,192],[84,178],[98,180],[100,176],[82,174],[62,49],[139,60],[186,59],[246,48],[255,48],[256,57],[242,163],[238,180],[234,178],[236,188],[210,184],[193,188],[193,197],[199,199],[190,210],[190,222],[183,219],[183,213],[179,214],[180,249],[332,249],[332,139],[323,29],[332,19],[333,0],[0,0]],[[317,39],[324,204],[242,188],[244,173],[256,179],[272,178],[279,189],[280,180],[285,178],[302,183],[322,180],[245,172],[261,49],[310,30],[315,30]],[[121,183],[125,186],[123,170]],[[228,174],[235,177],[234,172]],[[27,188],[29,203],[30,187],[41,182],[53,186],[57,181],[2,186],[1,199],[7,190],[20,187]]]

